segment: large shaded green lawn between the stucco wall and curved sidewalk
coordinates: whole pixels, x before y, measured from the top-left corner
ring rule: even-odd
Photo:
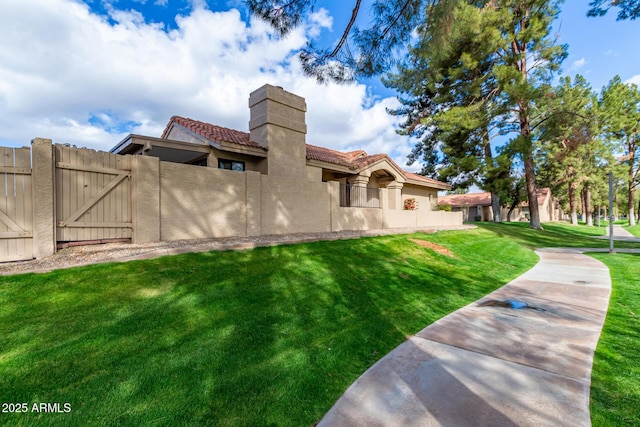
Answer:
[[[529,248],[607,247],[594,233],[483,223],[0,278],[0,401],[71,407],[0,424],[312,425],[407,335],[533,266]],[[612,272],[636,262],[618,256]]]

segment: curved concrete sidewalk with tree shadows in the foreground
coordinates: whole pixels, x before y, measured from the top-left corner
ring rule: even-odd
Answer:
[[[609,270],[577,249],[536,253],[527,273],[378,361],[318,426],[590,426]],[[480,305],[507,299],[544,311]]]

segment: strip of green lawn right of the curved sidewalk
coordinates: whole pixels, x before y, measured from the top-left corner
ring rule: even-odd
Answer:
[[[591,376],[594,426],[640,425],[640,254],[592,254],[611,271],[612,294]]]

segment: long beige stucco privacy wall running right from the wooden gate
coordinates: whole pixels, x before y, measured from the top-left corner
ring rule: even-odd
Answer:
[[[134,162],[134,177],[159,182],[159,208],[153,197],[135,212],[145,223],[159,223],[160,240],[331,232],[462,223],[461,212],[417,209],[340,207],[338,182],[312,182],[258,172],[236,172],[153,161]],[[136,190],[141,187],[135,185]],[[147,184],[146,188],[154,188]],[[389,192],[382,189],[382,203]],[[136,206],[140,206],[138,203]],[[158,215],[154,221],[152,216]],[[153,233],[134,233],[137,242],[154,241]]]

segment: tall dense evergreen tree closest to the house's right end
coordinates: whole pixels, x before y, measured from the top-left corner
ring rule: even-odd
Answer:
[[[423,161],[424,174],[454,187],[478,184],[492,193],[494,221],[500,222],[498,193],[509,175],[506,157],[494,158],[490,142],[496,118],[506,108],[498,98],[492,53],[499,48],[495,13],[474,5],[441,3],[431,9],[420,39],[385,85],[403,94],[399,133],[418,137],[409,164]],[[447,25],[445,22],[455,22]],[[472,52],[472,55],[469,54]]]

